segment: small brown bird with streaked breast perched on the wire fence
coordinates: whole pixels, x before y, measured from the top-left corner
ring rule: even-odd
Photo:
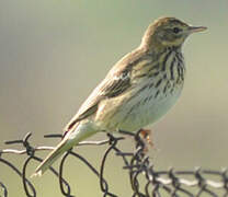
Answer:
[[[173,16],[151,23],[139,46],[117,61],[92,91],[34,175],[42,175],[61,154],[96,132],[134,134],[163,117],[184,85],[183,43],[206,28]]]

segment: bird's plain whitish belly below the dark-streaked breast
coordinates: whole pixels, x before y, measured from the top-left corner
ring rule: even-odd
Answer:
[[[118,125],[119,129],[136,131],[149,124],[156,123],[176,103],[182,91],[179,86],[175,91],[167,94],[157,94],[151,90],[145,91],[132,101],[134,104],[126,104],[123,109],[125,117]]]

